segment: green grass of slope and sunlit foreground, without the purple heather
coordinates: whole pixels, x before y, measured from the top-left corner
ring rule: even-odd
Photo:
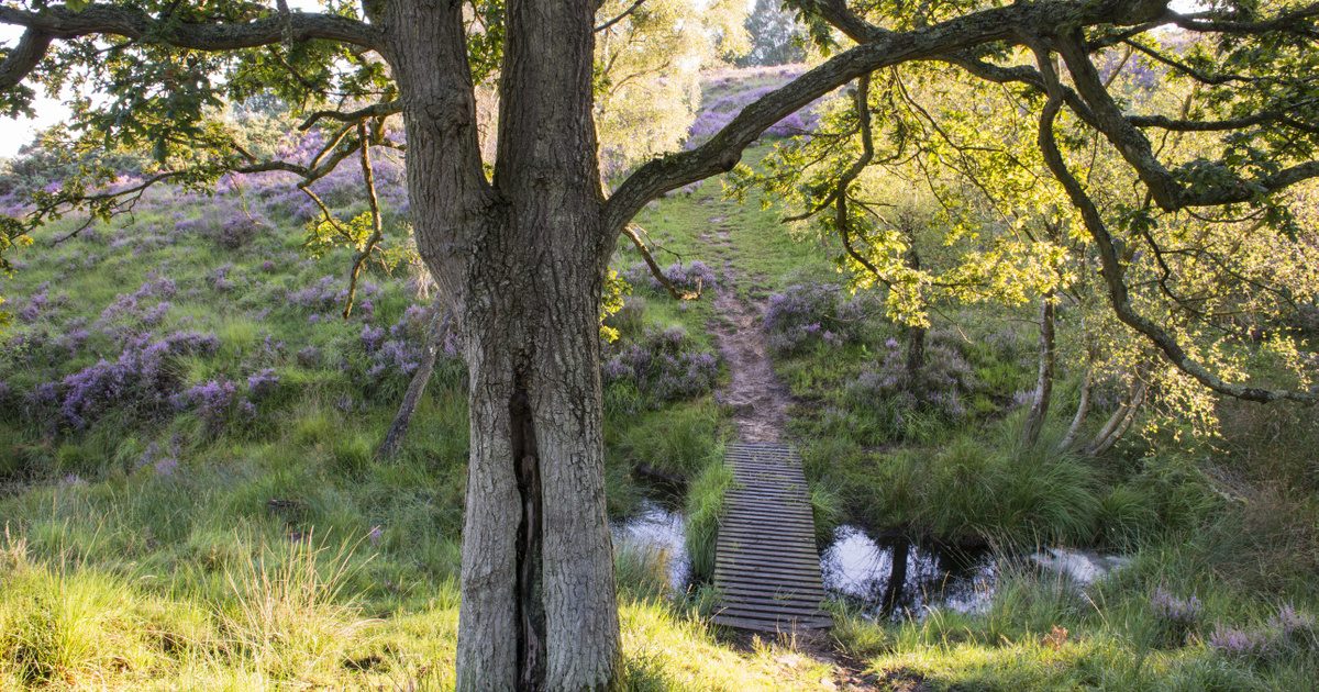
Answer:
[[[716,269],[728,262],[745,297],[839,282],[830,262],[838,248],[751,202],[728,202],[710,182],[640,220],[661,264],[679,254]],[[173,219],[144,210],[136,223]],[[30,335],[92,323],[149,272],[166,273],[179,282],[166,326],[220,340],[214,357],[175,364],[185,381],[239,380],[264,366],[281,377],[256,420],[219,432],[193,414],[152,420],[116,410],[55,435],[17,406],[0,409],[0,689],[452,688],[468,448],[462,369],[439,365],[401,455],[375,460],[406,380],[367,386],[361,324],[313,324],[286,304],[286,290],[338,275],[347,256],[288,256],[298,229],[282,231],[237,252],[203,239],[137,254],[104,239],[74,240],[24,256],[21,272],[0,279],[0,294],[51,282],[67,297],[42,322],[18,327]],[[88,257],[98,262],[84,266]],[[277,269],[260,269],[265,260]],[[634,261],[624,246],[615,265]],[[228,294],[207,289],[223,264],[240,279]],[[377,322],[392,323],[410,302],[405,277],[371,279],[383,286]],[[638,287],[637,297],[619,318],[624,337],[682,326],[699,347],[714,345],[711,294],[678,303]],[[868,315],[859,343],[776,357],[801,402],[789,435],[803,452],[822,535],[851,522],[1002,550],[988,612],[876,623],[835,602],[839,649],[898,687],[1311,688],[1312,631],[1260,659],[1216,652],[1207,641],[1219,625],[1264,627],[1283,604],[1319,613],[1319,415],[1224,405],[1224,439],[1213,448],[1130,435],[1101,459],[1054,453],[1075,397],[1075,373],[1064,372],[1041,444],[1021,449],[1021,414],[1009,402],[1031,382],[1033,335],[1002,326],[1029,315],[942,307],[938,326],[963,335],[958,348],[980,388],[962,420],[849,393],[884,340],[901,337],[880,314]],[[49,368],[17,366],[20,348],[7,348],[0,372],[30,389],[117,352],[98,339]],[[284,351],[266,352],[268,339]],[[319,349],[317,362],[295,357],[307,345]],[[654,407],[625,394],[607,399],[609,513],[638,506],[640,468],[683,480],[687,548],[695,572],[708,576],[733,482],[720,456],[727,411],[710,397]],[[144,463],[152,446],[177,468]],[[1133,563],[1082,594],[1010,559],[1038,543],[1122,551]],[[702,616],[711,589],[669,593],[666,560],[633,548],[616,555],[621,689],[830,688],[822,680],[831,668],[785,643],[739,649],[720,639]],[[1150,605],[1155,589],[1196,596],[1203,614],[1169,634]]]

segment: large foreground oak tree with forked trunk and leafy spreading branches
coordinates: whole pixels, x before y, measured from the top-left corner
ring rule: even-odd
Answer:
[[[1224,381],[1140,314],[1124,256],[1091,191],[1059,156],[1068,111],[1099,132],[1165,212],[1269,204],[1319,177],[1314,83],[1319,7],[1166,0],[793,0],[832,57],[748,105],[704,144],[660,156],[601,191],[599,0],[331,0],[291,12],[282,0],[9,0],[0,24],[22,38],[0,62],[11,112],[33,90],[74,84],[84,137],[149,148],[142,186],[202,186],[224,171],[284,170],[313,181],[369,146],[406,148],[413,227],[464,341],[471,456],[463,533],[458,680],[462,689],[599,689],[616,672],[619,623],[605,519],[598,315],[605,268],[632,216],[667,190],[735,166],[766,128],[849,82],[913,61],[1042,95],[1037,141],[1099,250],[1119,319],[1204,385],[1250,398],[1310,401]],[[616,3],[615,3],[616,4]],[[612,4],[611,4],[612,7]],[[1182,65],[1207,88],[1239,84],[1194,115],[1132,113],[1093,58],[1163,26],[1221,37],[1233,62]],[[1028,49],[1028,53],[1018,53]],[[1151,49],[1153,50],[1153,49]],[[1016,55],[1034,55],[1018,61]],[[1161,54],[1162,55],[1162,54]],[[475,84],[497,80],[497,141],[483,159]],[[273,94],[328,132],[310,161],[264,159],[208,117],[222,99]],[[401,113],[406,142],[383,119]],[[1220,159],[1169,167],[1148,130],[1217,132]],[[1235,137],[1235,138],[1233,138]],[[1244,146],[1241,142],[1246,142]],[[1241,156],[1245,150],[1250,156]],[[4,224],[0,252],[50,214],[121,210],[140,190],[88,175],[38,195]],[[843,175],[844,199],[848,177]],[[125,202],[129,200],[129,202]]]

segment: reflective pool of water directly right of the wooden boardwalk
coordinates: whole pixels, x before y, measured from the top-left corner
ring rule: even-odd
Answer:
[[[902,539],[874,540],[843,525],[820,554],[824,589],[871,617],[923,617],[931,608],[988,609],[997,580],[992,555],[943,551]],[[890,579],[896,577],[896,579]]]

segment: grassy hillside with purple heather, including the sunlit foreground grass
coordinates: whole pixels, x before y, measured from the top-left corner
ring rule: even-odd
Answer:
[[[712,103],[741,94],[736,79],[712,88]],[[376,460],[429,301],[406,266],[377,270],[340,318],[348,254],[309,256],[310,211],[284,190],[157,191],[58,244],[74,225],[54,224],[4,279],[0,688],[452,685],[463,368],[442,356],[404,451]],[[350,181],[322,195],[360,204]],[[782,215],[719,181],[646,208],[661,264],[702,279],[695,302],[620,249],[633,286],[607,320],[611,514],[636,509],[644,477],[686,480],[689,546],[710,550],[731,435],[714,395],[728,377],[718,283],[766,311],[818,517],[993,544],[997,592],[985,613],[892,623],[835,602],[832,638],[794,651],[714,631],[708,593],[667,593],[662,555],[620,550],[624,688],[834,689],[847,666],[900,689],[1312,688],[1315,411],[1224,405],[1217,451],[1132,436],[1089,459],[1047,452],[1075,398],[1064,380],[1045,442],[1018,449],[1025,312],[946,306],[930,382],[900,388],[901,330],[874,295],[842,289],[836,248]],[[1037,543],[1132,564],[1079,591],[1016,559]]]

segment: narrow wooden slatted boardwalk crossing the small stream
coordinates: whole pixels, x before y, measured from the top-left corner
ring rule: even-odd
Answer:
[[[719,526],[715,622],[757,631],[832,626],[802,460],[786,444],[729,444],[736,485]]]

